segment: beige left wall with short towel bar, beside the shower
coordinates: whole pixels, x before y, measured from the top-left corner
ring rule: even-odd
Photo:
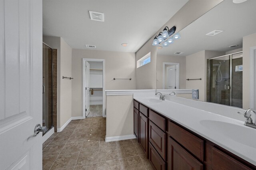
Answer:
[[[43,36],[43,42],[57,49],[57,128],[61,128],[71,118],[72,80],[71,47],[60,37]]]

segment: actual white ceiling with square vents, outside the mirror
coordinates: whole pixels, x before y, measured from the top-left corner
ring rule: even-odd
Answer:
[[[43,0],[43,35],[62,37],[72,48],[88,49],[86,44],[97,50],[136,52],[186,2]],[[90,20],[89,10],[104,13],[105,22]]]

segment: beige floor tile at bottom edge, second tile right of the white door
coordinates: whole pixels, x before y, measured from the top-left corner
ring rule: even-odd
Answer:
[[[78,154],[79,152],[60,154],[54,161],[51,170],[74,167],[78,158]]]

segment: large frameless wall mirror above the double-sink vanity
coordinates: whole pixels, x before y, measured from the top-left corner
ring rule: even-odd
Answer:
[[[255,6],[256,0],[224,0],[181,30],[179,40],[160,44],[157,89],[199,89],[200,101],[249,108]]]

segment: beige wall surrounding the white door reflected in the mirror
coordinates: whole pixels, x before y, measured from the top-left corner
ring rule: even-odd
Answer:
[[[180,63],[180,89],[186,89],[186,57],[157,55],[157,89],[163,88],[163,63]]]

